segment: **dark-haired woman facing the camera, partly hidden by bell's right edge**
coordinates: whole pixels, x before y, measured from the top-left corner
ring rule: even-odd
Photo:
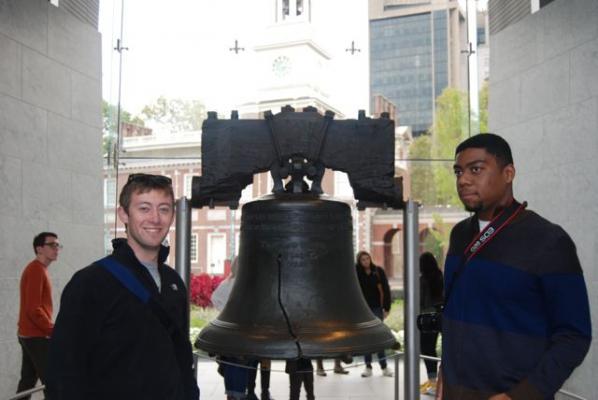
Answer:
[[[378,267],[372,262],[372,257],[367,251],[357,253],[357,279],[363,297],[370,310],[380,320],[384,320],[390,312],[390,286],[383,268]],[[382,375],[393,376],[392,370],[387,366],[386,354],[384,350],[378,352],[378,362],[382,369]],[[365,355],[365,370],[361,373],[363,378],[372,376],[372,355]]]

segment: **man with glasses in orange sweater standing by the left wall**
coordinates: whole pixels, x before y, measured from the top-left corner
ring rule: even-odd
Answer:
[[[52,322],[52,284],[48,267],[58,259],[62,248],[53,232],[42,232],[33,238],[35,259],[23,270],[20,284],[18,338],[21,345],[21,379],[17,393],[32,389],[39,379],[46,383],[48,347]],[[22,397],[30,399],[31,396]]]

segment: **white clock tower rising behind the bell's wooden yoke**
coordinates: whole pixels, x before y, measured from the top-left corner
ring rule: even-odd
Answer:
[[[240,107],[242,118],[257,117],[266,110],[277,112],[287,104],[296,109],[331,110],[336,118],[345,117],[331,100],[333,43],[328,31],[318,26],[318,21],[324,22],[318,12],[325,11],[321,5],[326,1],[330,0],[269,1],[268,13],[273,18],[257,34],[252,49],[256,97]]]

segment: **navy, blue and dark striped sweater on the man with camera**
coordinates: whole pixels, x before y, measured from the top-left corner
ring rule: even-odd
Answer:
[[[477,218],[451,232],[450,287]],[[588,295],[569,235],[523,211],[455,280],[443,314],[445,400],[553,399],[591,342]]]

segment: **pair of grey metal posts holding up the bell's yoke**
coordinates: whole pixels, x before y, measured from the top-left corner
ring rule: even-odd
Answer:
[[[403,209],[403,262],[405,265],[405,361],[403,398],[419,400],[419,332],[416,320],[419,313],[419,204],[409,199]],[[187,287],[191,281],[191,206],[183,196],[176,201],[175,270]],[[197,357],[194,355],[194,365]],[[395,363],[398,366],[398,362]],[[196,368],[195,368],[196,369]],[[398,368],[395,371],[395,400],[399,400]]]

